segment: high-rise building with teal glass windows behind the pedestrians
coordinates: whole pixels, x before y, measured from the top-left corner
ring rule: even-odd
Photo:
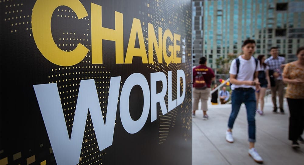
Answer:
[[[278,47],[286,62],[296,60],[296,50],[304,45],[303,0],[193,0],[193,65],[207,58],[211,68],[216,59],[241,54],[247,38],[256,41],[255,57]]]

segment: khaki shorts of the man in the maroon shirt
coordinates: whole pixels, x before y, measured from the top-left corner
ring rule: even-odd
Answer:
[[[211,88],[206,89],[196,89],[193,88],[192,90],[192,98],[193,98],[193,104],[192,109],[198,110],[199,109],[199,99],[201,99],[202,102],[202,110],[208,111],[208,97],[210,97]]]

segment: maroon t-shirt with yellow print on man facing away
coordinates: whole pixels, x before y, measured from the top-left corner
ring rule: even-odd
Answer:
[[[211,78],[215,77],[214,72],[211,68],[207,67],[206,65],[199,65],[199,66],[193,68],[192,72],[193,72],[192,82],[194,82],[196,75],[202,73],[202,75],[206,81],[207,87],[209,88],[211,86]]]

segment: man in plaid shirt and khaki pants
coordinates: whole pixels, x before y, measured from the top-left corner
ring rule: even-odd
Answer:
[[[285,58],[278,56],[279,51],[277,47],[270,48],[271,57],[265,60],[265,64],[269,66],[269,75],[270,78],[273,79],[273,83],[271,83],[271,95],[272,95],[272,103],[273,103],[273,112],[277,113],[277,99],[276,92],[278,91],[279,95],[279,108],[280,112],[284,114],[283,109],[283,98],[284,98],[284,83],[282,81],[282,68],[285,66]]]

